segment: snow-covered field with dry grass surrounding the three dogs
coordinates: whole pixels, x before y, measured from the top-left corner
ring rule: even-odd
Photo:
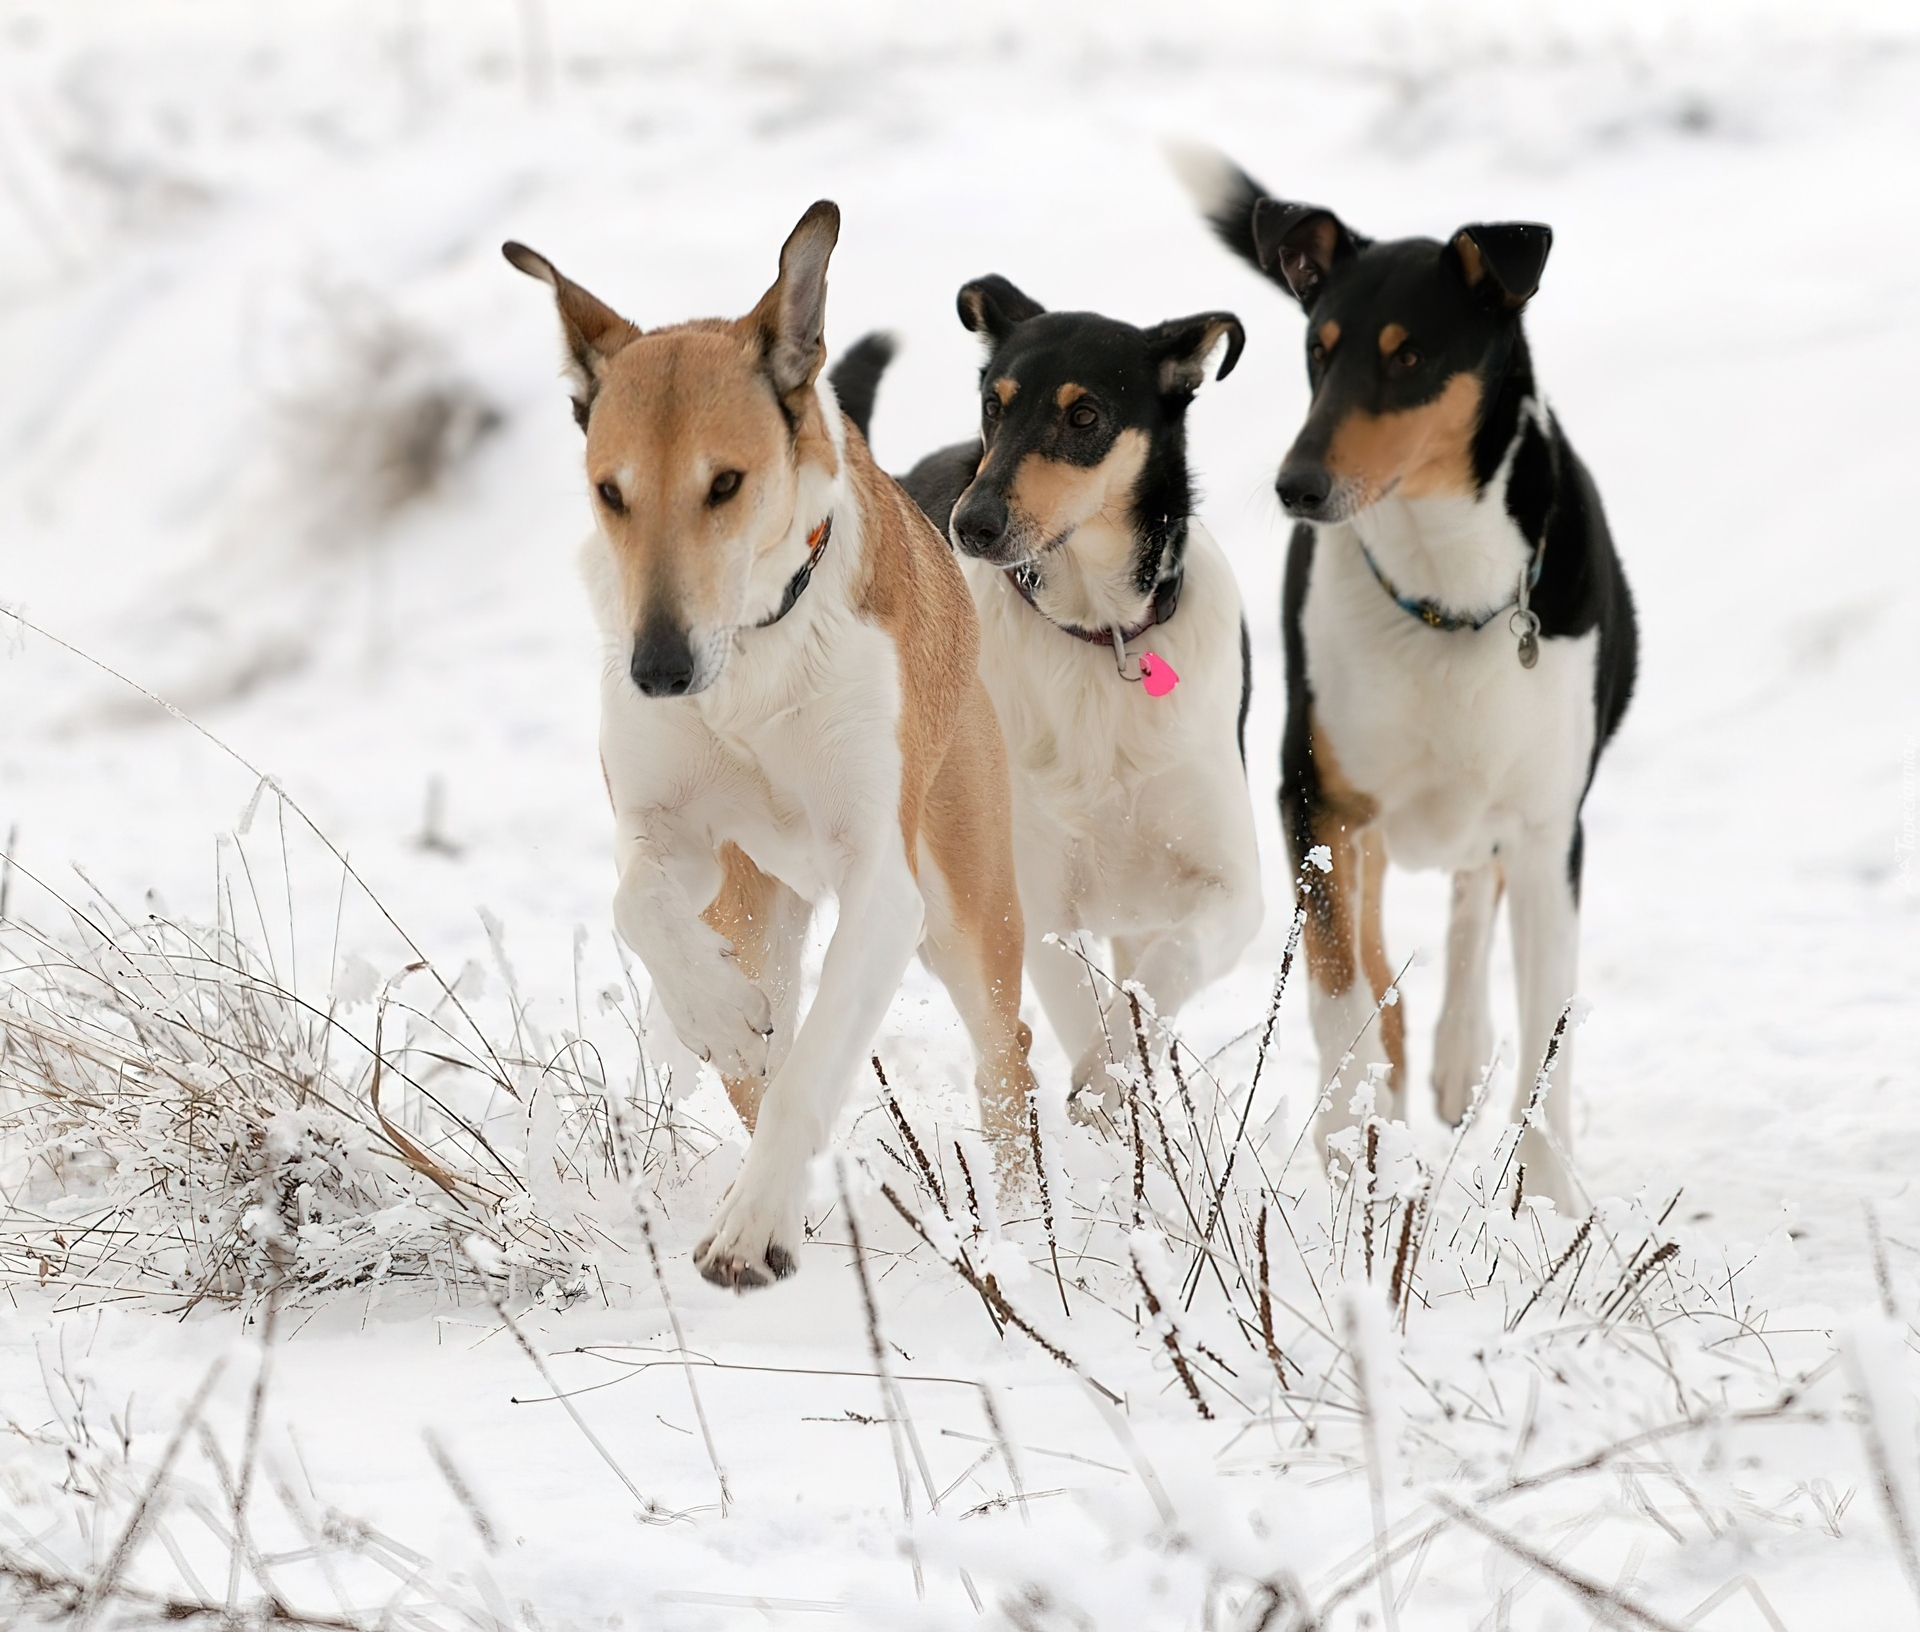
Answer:
[[[1584,1221],[1509,1206],[1511,1048],[1432,1116],[1438,877],[1388,900],[1411,1127],[1338,1192],[1296,1148],[1300,317],[1165,136],[1380,236],[1555,228],[1528,332],[1644,634]],[[1920,1624],[1916,167],[1905,6],[0,0],[0,1619]],[[972,428],[966,278],[1246,321],[1190,449],[1267,924],[1137,1142],[1037,1027],[1044,1217],[970,1183],[916,968],[899,1110],[856,1085],[801,1275],[733,1298],[687,1252],[743,1137],[637,1048],[578,432],[497,246],[733,315],[820,196],[829,344],[902,338],[889,468]]]

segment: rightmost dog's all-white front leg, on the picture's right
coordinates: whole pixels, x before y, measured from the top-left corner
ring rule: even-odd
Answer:
[[[1513,1116],[1526,1110],[1548,1041],[1572,998],[1580,960],[1580,908],[1567,872],[1569,843],[1528,843],[1505,854],[1507,906],[1513,925],[1513,966],[1521,1006],[1521,1060]],[[1538,1123],[1546,1123],[1546,1131]],[[1551,1139],[1548,1139],[1551,1133]],[[1521,1139],[1526,1192],[1572,1212],[1572,1177],[1561,1154],[1572,1154],[1572,1037],[1561,1039],[1546,1106]]]

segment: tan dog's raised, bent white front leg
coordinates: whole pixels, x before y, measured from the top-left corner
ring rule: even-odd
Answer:
[[[774,1008],[739,968],[732,943],[701,920],[722,876],[705,833],[649,818],[620,833],[612,922],[647,966],[680,1041],[720,1075],[755,1081],[766,1075]]]

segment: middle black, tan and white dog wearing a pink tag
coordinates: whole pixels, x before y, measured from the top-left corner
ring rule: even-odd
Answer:
[[[1246,620],[1187,472],[1187,405],[1223,342],[1233,369],[1242,332],[1225,311],[1152,328],[1044,311],[1000,276],[960,290],[960,321],[987,346],[979,438],[902,482],[948,530],[979,609],[1027,979],[1089,1116],[1117,1102],[1104,1068],[1110,1046],[1131,1056],[1133,1025],[1123,991],[1094,991],[1064,939],[1106,939],[1112,973],[1171,1018],[1260,927]],[[870,338],[835,369],[860,422],[889,355]]]

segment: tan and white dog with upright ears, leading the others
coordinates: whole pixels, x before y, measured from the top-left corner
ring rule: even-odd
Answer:
[[[973,1039],[1018,1164],[1031,1035],[1006,751],[952,553],[820,382],[839,211],[816,204],[737,321],[639,330],[518,244],[561,307],[605,637],[614,924],[753,1131],[695,1261],[797,1267],[806,1167],[914,950]],[[839,927],[804,1021],[810,902]]]

